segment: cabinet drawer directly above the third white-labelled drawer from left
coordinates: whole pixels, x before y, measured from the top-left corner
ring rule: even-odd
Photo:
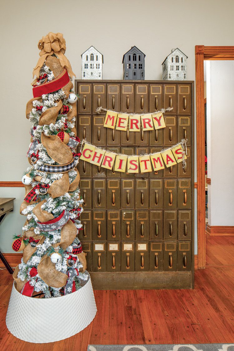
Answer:
[[[121,211],[121,240],[135,240],[135,211]]]

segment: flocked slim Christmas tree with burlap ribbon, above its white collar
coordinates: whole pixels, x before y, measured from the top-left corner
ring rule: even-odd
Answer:
[[[38,48],[34,98],[26,107],[33,124],[27,153],[31,166],[22,178],[26,194],[20,213],[27,220],[22,236],[16,236],[12,245],[15,251],[23,250],[23,258],[13,277],[22,294],[43,292],[49,298],[76,291],[88,275],[78,238],[83,200],[75,168],[80,140],[75,128],[74,74],[61,33],[49,33]]]

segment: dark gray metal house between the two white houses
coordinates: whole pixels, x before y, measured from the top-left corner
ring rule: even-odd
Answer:
[[[123,79],[145,79],[145,56],[136,46],[123,55]]]

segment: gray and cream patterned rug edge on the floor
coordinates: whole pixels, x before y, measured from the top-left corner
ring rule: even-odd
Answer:
[[[88,351],[234,351],[234,344],[88,345]]]

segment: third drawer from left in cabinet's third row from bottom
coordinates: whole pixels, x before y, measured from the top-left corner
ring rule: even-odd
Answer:
[[[107,179],[107,208],[120,208],[120,178]]]

